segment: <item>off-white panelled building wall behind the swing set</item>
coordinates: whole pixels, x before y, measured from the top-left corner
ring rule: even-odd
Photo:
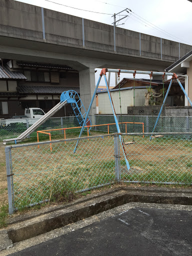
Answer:
[[[145,89],[120,90],[121,112],[127,114],[127,106],[133,106],[133,93],[135,94],[134,105],[144,105]],[[120,114],[119,91],[111,91],[111,97],[116,114]],[[112,109],[107,92],[98,93],[98,113],[112,114]]]

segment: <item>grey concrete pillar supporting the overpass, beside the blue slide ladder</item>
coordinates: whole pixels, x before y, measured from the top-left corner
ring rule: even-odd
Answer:
[[[94,78],[94,68],[87,68],[82,71],[79,71],[79,86],[80,86],[80,99],[87,111],[92,98],[94,89],[95,89],[95,78]],[[92,107],[89,112],[90,115],[96,113],[96,95],[93,100]],[[92,122],[94,118],[92,118]]]

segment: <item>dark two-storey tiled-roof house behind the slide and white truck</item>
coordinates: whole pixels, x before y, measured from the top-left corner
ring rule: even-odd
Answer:
[[[4,59],[0,66],[0,118],[23,115],[25,107],[49,111],[65,90],[79,94],[78,71],[52,63]],[[70,105],[55,116],[71,115]]]

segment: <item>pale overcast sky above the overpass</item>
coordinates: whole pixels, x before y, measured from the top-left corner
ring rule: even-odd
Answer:
[[[124,8],[131,11],[120,13],[116,20],[120,27],[192,45],[192,3],[188,0],[19,0],[71,15],[111,24],[113,13]],[[74,8],[109,13],[99,14]],[[98,71],[97,71],[98,74]],[[127,75],[126,75],[127,76]],[[122,77],[121,77],[122,78]],[[111,79],[113,82],[113,79]],[[102,83],[103,84],[103,83]]]

